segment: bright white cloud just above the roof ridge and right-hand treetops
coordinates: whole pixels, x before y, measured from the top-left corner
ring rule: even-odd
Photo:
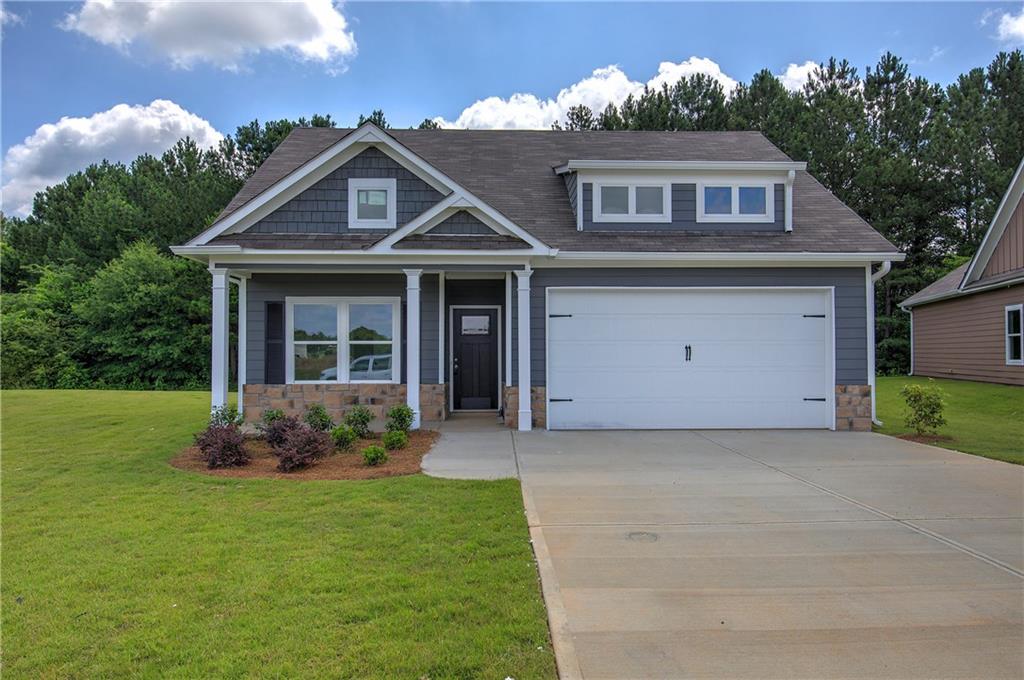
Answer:
[[[660,88],[664,83],[675,84],[680,78],[698,73],[711,76],[721,83],[726,94],[736,87],[736,81],[723,73],[721,67],[711,59],[691,56],[675,63],[663,61],[657,74],[646,83],[631,80],[617,66],[596,69],[589,77],[560,90],[554,98],[541,98],[536,94],[517,92],[508,98],[489,96],[478,99],[459,114],[454,121],[443,118],[434,120],[444,127],[453,128],[550,128],[556,121],[565,120],[566,112],[575,105],[585,104],[600,113],[609,103],[618,104],[630,94],[643,92],[646,84]]]

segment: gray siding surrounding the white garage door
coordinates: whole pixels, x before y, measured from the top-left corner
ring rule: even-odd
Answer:
[[[545,291],[549,286],[835,286],[836,384],[867,384],[867,301],[864,269],[844,268],[693,268],[693,269],[535,269],[530,277],[529,324],[534,385],[544,385]],[[512,379],[518,383],[516,295],[512,296]]]

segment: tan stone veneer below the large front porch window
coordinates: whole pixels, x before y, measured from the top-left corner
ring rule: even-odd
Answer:
[[[243,403],[247,423],[259,422],[267,409],[281,409],[289,416],[302,416],[310,403],[323,403],[335,421],[356,405],[383,419],[387,410],[406,402],[406,385],[245,385]],[[439,422],[447,416],[447,385],[420,385],[420,419]]]

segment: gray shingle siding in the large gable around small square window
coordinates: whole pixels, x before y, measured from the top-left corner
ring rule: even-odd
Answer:
[[[377,148],[368,148],[246,229],[258,233],[347,233],[348,178],[397,180],[401,226],[443,198]],[[356,229],[366,233],[366,229]]]

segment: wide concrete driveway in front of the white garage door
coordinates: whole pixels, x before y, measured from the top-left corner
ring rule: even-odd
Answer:
[[[1024,675],[1024,468],[870,433],[514,442],[563,678]]]

